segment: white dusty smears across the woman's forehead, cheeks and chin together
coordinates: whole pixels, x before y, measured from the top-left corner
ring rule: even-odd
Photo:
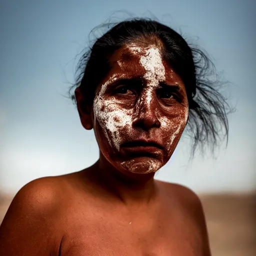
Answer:
[[[104,98],[104,93],[108,85],[116,80],[116,75],[112,75],[101,86],[99,93],[95,96],[93,101],[94,125],[97,119],[109,145],[117,151],[119,151],[120,144],[122,143],[120,131],[122,131],[122,134],[132,132],[133,118],[138,116],[141,109],[150,107],[152,94],[155,93],[155,87],[158,86],[160,81],[165,80],[165,69],[158,48],[150,47],[145,50],[144,48],[130,45],[128,49],[131,53],[140,55],[139,63],[145,70],[143,78],[147,82],[140,97],[137,99],[135,107],[126,109],[120,106],[116,98]],[[118,61],[118,64],[121,66],[121,62]],[[177,122],[175,123],[173,120],[163,116],[157,116],[157,118],[162,129],[166,129],[166,131],[169,132],[172,131],[171,133],[168,132],[168,134],[171,134],[171,136],[168,137],[167,143],[167,150],[169,150],[174,138],[180,134],[180,130],[184,127],[184,124],[182,121],[179,121],[177,125]],[[121,164],[125,169],[131,172],[149,173],[158,170],[163,163],[158,159],[152,158],[143,162],[135,162],[131,159]]]

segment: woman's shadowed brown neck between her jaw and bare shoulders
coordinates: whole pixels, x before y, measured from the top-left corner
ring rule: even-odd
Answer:
[[[157,194],[154,173],[122,173],[100,154],[93,165],[94,175],[100,186],[125,205],[149,204]]]

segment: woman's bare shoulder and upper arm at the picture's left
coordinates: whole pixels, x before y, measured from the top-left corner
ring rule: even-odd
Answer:
[[[23,186],[0,225],[0,255],[49,255],[54,247],[56,194],[50,178]]]

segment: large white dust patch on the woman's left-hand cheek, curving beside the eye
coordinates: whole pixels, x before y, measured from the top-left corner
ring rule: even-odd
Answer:
[[[132,111],[131,109],[121,108],[114,98],[104,98],[107,86],[114,80],[116,80],[116,77],[115,75],[112,75],[104,84],[102,84],[99,93],[94,98],[94,127],[97,120],[109,145],[112,148],[119,150],[121,143],[120,131],[122,128],[125,128],[128,131],[131,127]]]

